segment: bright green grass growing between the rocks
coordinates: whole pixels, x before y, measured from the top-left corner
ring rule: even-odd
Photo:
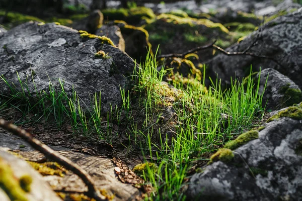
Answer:
[[[137,68],[132,89],[120,89],[123,105],[112,106],[107,115],[101,112],[101,93],[95,93],[91,106],[85,106],[77,91],[73,90],[71,97],[65,93],[61,80],[60,91],[55,91],[50,82],[49,91],[32,94],[28,90],[30,79],[20,80],[22,90],[17,90],[2,76],[11,96],[0,96],[0,116],[13,109],[23,114],[18,124],[43,120],[61,128],[69,123],[75,133],[97,136],[107,142],[114,137],[111,124],[115,124],[120,128],[116,135],[129,139],[124,146],[138,147],[146,158],[152,158],[145,162],[158,167],[146,165],[142,172],[145,183],[154,189],[145,200],[184,200],[183,186],[192,164],[208,162],[209,154],[248,131],[253,121],[262,117],[260,79],[256,83],[252,76],[242,82],[234,80],[230,89],[222,90],[219,80],[212,81],[207,89],[203,86],[205,76],[201,82],[185,84],[179,77],[171,81],[173,89],[162,82],[169,69],[158,71],[154,56],[148,54]],[[166,118],[167,108],[173,108],[176,115]]]

